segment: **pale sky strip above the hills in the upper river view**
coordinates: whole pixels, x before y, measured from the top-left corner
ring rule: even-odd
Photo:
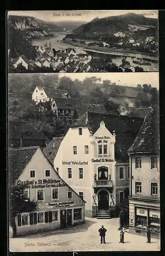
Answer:
[[[107,16],[116,16],[126,13],[143,14],[147,18],[158,18],[158,11],[156,10],[78,10],[78,11],[9,11],[8,15],[18,16],[32,16],[45,22],[63,22],[63,21],[75,21],[75,22],[90,22],[92,19],[104,18]],[[151,15],[146,15],[151,14]]]

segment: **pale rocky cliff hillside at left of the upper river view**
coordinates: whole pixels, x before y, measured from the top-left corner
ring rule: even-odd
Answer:
[[[51,33],[60,30],[60,28],[53,23],[46,23],[43,20],[30,16],[9,15],[8,25],[14,29],[23,31],[45,31],[46,33]]]

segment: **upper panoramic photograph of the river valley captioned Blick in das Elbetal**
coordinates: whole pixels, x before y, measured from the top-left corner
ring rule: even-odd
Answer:
[[[8,73],[158,72],[158,11],[8,11]]]

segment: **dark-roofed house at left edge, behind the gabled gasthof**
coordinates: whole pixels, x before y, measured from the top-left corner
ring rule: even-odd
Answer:
[[[44,148],[49,139],[27,121],[10,121],[8,133],[8,146],[26,147],[40,146]]]

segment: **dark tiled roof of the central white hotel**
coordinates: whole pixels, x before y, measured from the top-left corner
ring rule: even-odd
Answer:
[[[141,129],[143,120],[141,117],[86,112],[71,127],[87,126],[92,135],[94,135],[100,127],[100,122],[104,121],[106,129],[112,134],[115,131],[116,134],[116,161],[127,162],[129,160],[127,151]]]

